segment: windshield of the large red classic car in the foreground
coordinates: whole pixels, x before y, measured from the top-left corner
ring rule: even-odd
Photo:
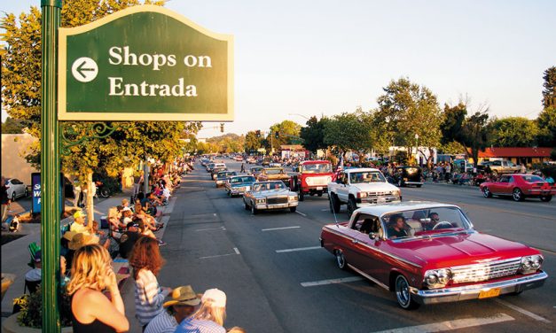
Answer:
[[[453,206],[386,213],[381,219],[390,239],[413,238],[472,228],[464,213]]]

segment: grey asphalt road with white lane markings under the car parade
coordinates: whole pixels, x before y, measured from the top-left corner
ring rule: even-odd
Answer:
[[[224,160],[231,169],[240,164]],[[246,165],[246,169],[249,165]],[[240,197],[216,189],[196,165],[176,191],[176,206],[161,248],[167,265],[159,281],[217,287],[228,295],[226,327],[248,332],[439,331],[551,332],[556,322],[556,283],[521,296],[489,298],[416,311],[399,308],[395,295],[335,266],[318,248],[320,229],[334,221],[328,199],[307,197],[297,213],[247,212]],[[461,206],[475,228],[543,249],[544,270],[556,272],[556,202],[483,198],[476,188],[425,185],[403,189],[403,200],[435,200]],[[339,221],[348,220],[345,206]],[[338,283],[338,279],[342,283]],[[335,283],[333,283],[335,282]],[[425,325],[425,326],[423,326]]]

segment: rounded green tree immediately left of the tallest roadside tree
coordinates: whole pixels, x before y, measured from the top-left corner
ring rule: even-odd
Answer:
[[[336,146],[341,154],[356,151],[359,160],[372,148],[372,114],[357,108],[341,113],[325,122],[325,144]]]

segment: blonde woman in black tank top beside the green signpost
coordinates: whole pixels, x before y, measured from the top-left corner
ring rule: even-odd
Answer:
[[[106,249],[98,244],[84,245],[75,252],[72,278],[67,283],[74,333],[129,330],[111,260]],[[110,292],[112,300],[102,293],[105,289]]]

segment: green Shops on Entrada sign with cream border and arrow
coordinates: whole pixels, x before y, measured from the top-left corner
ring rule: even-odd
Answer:
[[[59,120],[233,120],[233,36],[161,6],[59,29]]]

